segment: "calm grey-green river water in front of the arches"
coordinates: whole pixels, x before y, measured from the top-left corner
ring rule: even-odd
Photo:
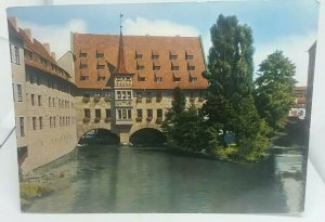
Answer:
[[[230,164],[158,147],[78,147],[39,170],[56,190],[25,211],[296,213],[303,209],[306,158],[281,153]]]

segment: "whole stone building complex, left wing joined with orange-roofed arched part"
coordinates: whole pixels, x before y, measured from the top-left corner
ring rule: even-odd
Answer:
[[[17,28],[16,19],[9,27],[22,61],[12,70],[15,96],[23,97],[15,112],[26,171],[69,153],[91,130],[109,130],[121,144],[139,130],[159,131],[177,87],[187,106],[204,103],[200,37],[72,32],[70,51],[56,62],[50,45]]]

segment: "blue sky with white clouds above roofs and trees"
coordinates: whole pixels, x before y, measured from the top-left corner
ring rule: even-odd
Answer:
[[[219,14],[236,15],[252,29],[255,69],[275,50],[296,65],[297,86],[307,84],[308,50],[316,40],[318,3],[314,0],[253,0],[11,8],[8,16],[49,42],[56,57],[70,49],[70,31],[123,35],[202,36],[208,56],[210,27]]]

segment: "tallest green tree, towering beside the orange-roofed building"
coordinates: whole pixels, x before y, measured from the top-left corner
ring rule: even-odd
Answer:
[[[209,88],[203,113],[211,125],[236,134],[242,158],[256,159],[269,146],[269,128],[252,97],[252,31],[238,24],[236,16],[220,15],[210,32],[212,47],[206,74]]]

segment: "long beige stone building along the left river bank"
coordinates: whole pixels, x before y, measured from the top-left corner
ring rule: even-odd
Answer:
[[[20,165],[29,171],[76,147],[75,84],[49,44],[9,19]]]

